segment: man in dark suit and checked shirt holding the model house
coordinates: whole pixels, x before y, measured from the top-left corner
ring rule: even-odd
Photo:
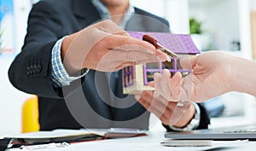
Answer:
[[[170,32],[166,20],[132,7],[129,0],[41,0],[33,6],[9,79],[17,89],[38,95],[40,130],[145,130],[148,111],[168,130],[207,128],[209,119],[199,104],[177,107],[154,91],[143,91],[137,100],[123,95],[119,69],[165,61],[166,55],[122,28]]]

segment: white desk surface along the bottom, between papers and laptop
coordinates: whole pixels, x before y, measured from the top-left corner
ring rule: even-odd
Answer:
[[[103,140],[103,141],[94,141],[94,142],[79,142],[73,143],[65,148],[51,148],[51,149],[42,149],[50,151],[84,151],[84,150],[110,150],[110,151],[165,151],[165,150],[182,150],[182,151],[199,151],[206,150],[206,147],[197,147],[197,148],[171,148],[163,147],[160,145],[161,141],[166,140],[164,138],[165,131],[148,131],[148,136],[138,136],[131,138],[121,138],[121,139],[112,139],[112,140]],[[256,142],[241,142],[241,143],[232,143],[221,150],[227,151],[254,151],[256,147]],[[19,148],[7,149],[6,151],[15,151],[20,150]],[[37,149],[37,151],[40,151]]]

